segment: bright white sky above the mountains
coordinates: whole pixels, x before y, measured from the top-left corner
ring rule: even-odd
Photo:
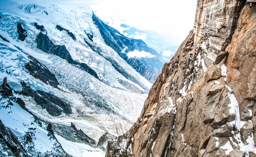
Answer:
[[[197,0],[0,0],[18,3],[49,3],[62,8],[90,7],[104,22],[122,23],[140,30],[154,30],[181,43],[194,27]],[[114,26],[113,25],[113,26]]]

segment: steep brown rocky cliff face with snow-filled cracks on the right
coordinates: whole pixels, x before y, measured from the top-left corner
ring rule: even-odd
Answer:
[[[256,155],[256,6],[202,1],[136,124],[106,156]]]

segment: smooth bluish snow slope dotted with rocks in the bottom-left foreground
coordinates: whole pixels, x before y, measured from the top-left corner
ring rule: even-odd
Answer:
[[[17,103],[0,95],[0,119],[19,139],[30,156],[60,155],[61,149],[58,141],[49,135],[46,125],[39,122]],[[28,141],[29,138],[31,141]]]

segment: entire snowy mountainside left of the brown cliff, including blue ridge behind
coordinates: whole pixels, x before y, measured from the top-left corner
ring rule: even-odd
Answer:
[[[0,10],[0,80],[13,89],[1,94],[2,128],[28,156],[104,156],[106,140],[140,115],[161,54],[104,25],[90,8],[5,2]]]

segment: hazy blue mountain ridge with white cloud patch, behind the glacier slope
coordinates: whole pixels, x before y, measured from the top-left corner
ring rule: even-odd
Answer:
[[[154,83],[159,70],[168,62],[162,54],[147,46],[141,39],[127,38],[118,30],[106,25],[94,13],[92,19],[100,29],[105,43],[113,48],[122,59],[138,73]]]

